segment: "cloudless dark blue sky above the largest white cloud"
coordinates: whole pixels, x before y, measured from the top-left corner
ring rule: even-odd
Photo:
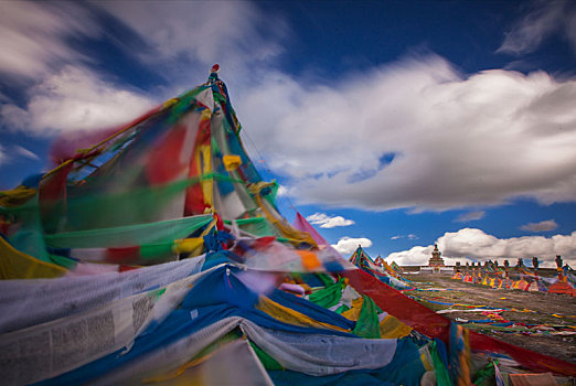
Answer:
[[[271,1],[259,3],[298,28],[284,71],[327,77],[370,69],[409,53],[435,52],[466,74],[502,68],[513,57],[497,53],[515,20],[533,4],[519,1]],[[550,40],[519,68],[574,73],[576,58],[562,39]]]

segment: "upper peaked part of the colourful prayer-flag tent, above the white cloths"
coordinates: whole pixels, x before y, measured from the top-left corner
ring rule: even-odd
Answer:
[[[263,181],[246,154],[216,71],[205,84],[99,133],[104,138],[88,149],[56,147],[58,167],[33,186],[3,192],[8,244],[25,254],[2,262],[3,277],[62,275],[54,264],[190,257],[205,249],[205,236],[224,229],[236,239],[275,238],[262,248],[290,246],[282,264],[294,268],[344,268],[335,250],[320,250],[278,213],[278,185]],[[311,253],[299,251],[305,249]]]

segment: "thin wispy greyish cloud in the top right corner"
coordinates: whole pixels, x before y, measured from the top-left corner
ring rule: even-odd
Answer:
[[[535,2],[506,33],[497,52],[526,54],[535,51],[547,37],[559,33],[576,52],[576,7],[569,1]]]

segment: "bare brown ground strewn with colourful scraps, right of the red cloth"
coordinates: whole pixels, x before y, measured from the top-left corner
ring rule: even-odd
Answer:
[[[406,291],[405,294],[435,311],[455,310],[441,312],[450,320],[458,320],[471,330],[520,347],[576,364],[576,298],[545,292],[494,290],[486,286],[451,280],[451,275],[406,277],[426,291]],[[490,310],[469,312],[467,307],[438,303],[489,305],[506,310],[490,312],[492,315],[489,315],[487,311]],[[501,323],[514,322],[514,325],[466,323],[490,318]]]

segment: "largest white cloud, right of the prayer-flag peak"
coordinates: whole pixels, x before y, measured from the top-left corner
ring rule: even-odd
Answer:
[[[236,110],[302,203],[442,211],[575,201],[573,100],[574,79],[428,55],[326,85],[269,72]]]

